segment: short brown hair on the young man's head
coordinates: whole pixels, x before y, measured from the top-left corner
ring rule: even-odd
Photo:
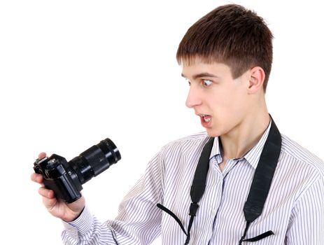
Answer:
[[[264,91],[272,66],[272,32],[252,10],[228,4],[220,6],[188,29],[176,53],[179,64],[190,65],[195,57],[206,63],[230,66],[238,78],[254,66],[265,71]]]

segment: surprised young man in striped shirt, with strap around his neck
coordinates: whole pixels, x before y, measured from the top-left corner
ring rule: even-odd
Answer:
[[[262,18],[220,6],[188,29],[177,59],[206,133],[164,146],[113,221],[99,223],[84,197],[66,204],[40,188],[64,243],[324,244],[323,161],[269,116],[272,33]]]

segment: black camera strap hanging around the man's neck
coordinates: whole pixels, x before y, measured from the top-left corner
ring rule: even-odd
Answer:
[[[179,218],[169,209],[162,206],[162,204],[157,204],[157,207],[166,211],[167,214],[171,215],[176,222],[180,225],[181,229],[187,236],[185,244],[189,244],[190,241],[190,230],[192,228],[193,220],[197,214],[197,209],[199,208],[198,202],[204,195],[206,188],[206,177],[209,171],[209,157],[211,155],[211,149],[213,148],[214,138],[209,139],[205,144],[202,154],[200,155],[199,162],[195,171],[195,176],[192,181],[192,186],[190,190],[190,197],[192,203],[190,204],[190,221],[188,225],[188,230],[185,232],[183,224]],[[244,235],[239,240],[239,245],[242,241],[259,241],[269,235],[274,235],[272,230],[269,230],[257,237],[250,239],[244,239],[246,237],[246,232],[248,231],[249,226],[256,218],[262,213],[262,209],[265,206],[265,200],[269,193],[269,189],[272,183],[276,165],[279,160],[279,155],[281,151],[281,134],[272,120],[272,125],[270,127],[269,135],[265,146],[263,147],[262,153],[260,155],[260,160],[258,162],[258,167],[255,169],[255,174],[251,184],[250,192],[248,193],[248,199],[244,204],[244,217],[246,219],[246,228],[244,230]]]

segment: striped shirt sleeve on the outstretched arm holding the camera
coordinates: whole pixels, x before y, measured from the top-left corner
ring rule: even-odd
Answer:
[[[161,230],[162,151],[149,162],[145,174],[120,203],[113,221],[99,223],[88,207],[70,223],[64,223],[64,244],[150,244]]]

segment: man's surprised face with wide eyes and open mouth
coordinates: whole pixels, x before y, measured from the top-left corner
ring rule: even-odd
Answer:
[[[196,59],[183,64],[189,84],[186,106],[195,110],[211,137],[235,133],[249,110],[248,72],[233,79],[230,67],[221,63],[206,64]]]

